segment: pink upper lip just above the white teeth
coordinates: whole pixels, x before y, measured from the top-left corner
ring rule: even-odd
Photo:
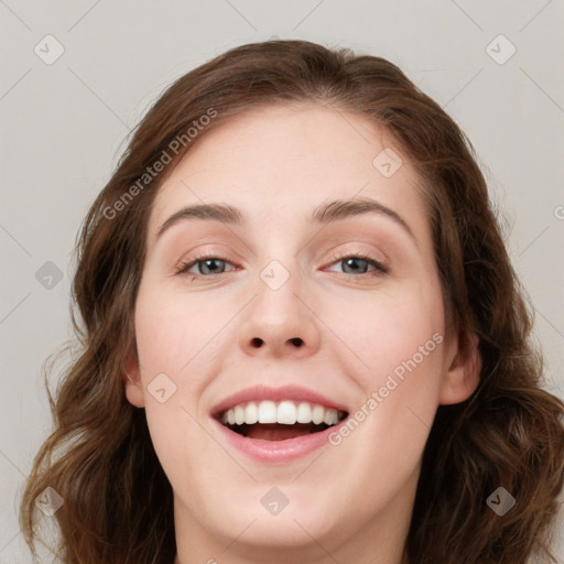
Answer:
[[[307,401],[310,403],[317,403],[324,408],[332,408],[338,411],[346,411],[348,409],[341,403],[330,400],[318,392],[314,392],[300,386],[283,386],[281,388],[269,388],[267,386],[254,386],[252,388],[246,388],[240,390],[212,408],[212,416],[217,416],[225,411],[238,405],[240,403],[249,401]]]

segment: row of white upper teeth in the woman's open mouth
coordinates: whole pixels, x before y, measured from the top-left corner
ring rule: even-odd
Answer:
[[[221,423],[229,423],[229,425],[242,425],[243,423],[248,425],[254,423],[282,423],[283,425],[314,423],[318,425],[325,423],[330,426],[336,425],[338,421],[337,410],[306,401],[250,401],[240,403],[221,415]]]

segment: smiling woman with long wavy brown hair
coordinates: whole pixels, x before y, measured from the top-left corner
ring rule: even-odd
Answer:
[[[74,295],[30,545],[43,503],[65,564],[555,562],[564,406],[470,142],[388,61],[274,41],[181,77]]]

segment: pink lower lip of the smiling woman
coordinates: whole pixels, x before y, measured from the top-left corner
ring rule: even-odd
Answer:
[[[212,417],[212,424],[218,429],[228,444],[260,463],[289,463],[306,456],[328,444],[329,434],[338,432],[338,429],[345,421],[343,420],[337,425],[327,427],[318,433],[311,433],[310,435],[296,436],[284,441],[263,441],[239,435]]]

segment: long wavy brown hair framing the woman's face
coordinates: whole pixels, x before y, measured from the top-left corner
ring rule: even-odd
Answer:
[[[90,207],[73,284],[80,349],[56,400],[50,392],[54,431],[21,503],[26,542],[33,550],[35,499],[52,487],[64,500],[54,514],[64,564],[173,561],[172,489],[144,411],[127,401],[123,387],[151,205],[197,135],[258,105],[301,101],[367,116],[397,140],[424,186],[448,317],[479,337],[480,383],[467,401],[438,408],[425,446],[406,557],[519,564],[536,554],[556,562],[547,546],[564,482],[564,405],[541,389],[531,307],[475,150],[389,61],[305,41],[243,45],[178,78],[133,131]],[[170,162],[144,176],[158,161]],[[502,517],[487,503],[499,487],[517,500]]]

